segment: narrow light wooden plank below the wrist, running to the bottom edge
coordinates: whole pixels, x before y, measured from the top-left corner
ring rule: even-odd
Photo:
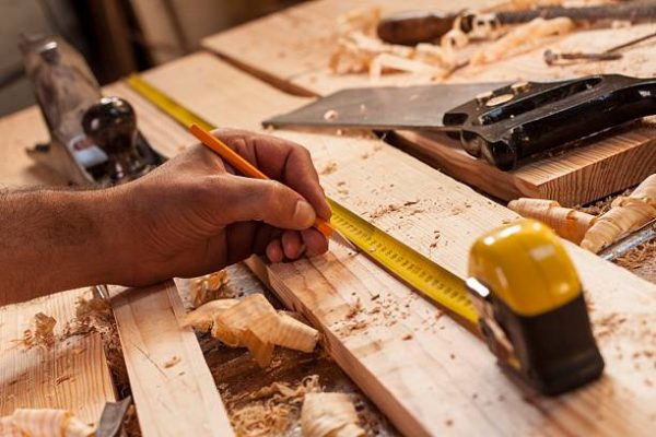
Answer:
[[[113,287],[112,307],[144,436],[231,436],[227,414],[175,284]]]

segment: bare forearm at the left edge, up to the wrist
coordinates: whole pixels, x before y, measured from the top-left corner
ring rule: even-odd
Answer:
[[[106,283],[112,190],[0,193],[0,305]]]

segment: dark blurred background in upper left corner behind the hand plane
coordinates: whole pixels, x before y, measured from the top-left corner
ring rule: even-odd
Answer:
[[[0,116],[34,103],[21,33],[62,35],[101,84],[173,60],[200,39],[301,0],[0,0]]]

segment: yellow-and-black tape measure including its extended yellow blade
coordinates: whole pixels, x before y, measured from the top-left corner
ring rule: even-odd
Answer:
[[[132,76],[129,83],[180,125],[212,129],[210,122],[141,78]],[[336,229],[484,338],[522,387],[558,394],[601,374],[604,362],[591,336],[581,283],[558,237],[546,225],[524,220],[481,237],[470,253],[471,277],[466,285],[347,208],[328,201]],[[504,274],[508,281],[501,279]]]

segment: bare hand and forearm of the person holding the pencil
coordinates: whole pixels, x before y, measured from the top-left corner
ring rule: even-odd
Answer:
[[[195,276],[253,253],[280,262],[326,251],[311,226],[330,209],[307,151],[245,131],[215,134],[277,180],[236,176],[196,145],[119,187],[0,194],[0,305]]]

